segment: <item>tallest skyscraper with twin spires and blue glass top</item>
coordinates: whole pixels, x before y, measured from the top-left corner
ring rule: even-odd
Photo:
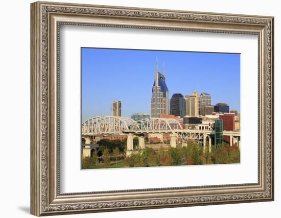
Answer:
[[[163,66],[163,74],[158,72],[157,58],[150,111],[151,117],[159,117],[160,114],[169,114],[169,90],[165,82],[165,69]]]

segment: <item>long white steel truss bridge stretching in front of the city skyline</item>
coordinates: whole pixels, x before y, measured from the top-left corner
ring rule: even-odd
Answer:
[[[203,140],[205,146],[208,138],[210,146],[210,137],[215,134],[213,130],[189,130],[183,129],[177,119],[172,118],[145,118],[135,121],[122,116],[96,116],[87,119],[82,124],[82,137],[97,135],[120,135],[120,134],[148,134],[148,133],[167,133],[171,134],[171,145],[175,146],[176,138],[185,141]],[[232,137],[234,142],[239,142],[240,132],[223,131],[223,135],[230,136],[230,145]]]

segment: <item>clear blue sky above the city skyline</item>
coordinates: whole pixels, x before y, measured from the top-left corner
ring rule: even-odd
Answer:
[[[152,85],[165,62],[169,99],[193,90],[212,95],[212,105],[227,103],[240,111],[240,54],[82,48],[82,122],[111,115],[122,102],[122,116],[150,114]]]

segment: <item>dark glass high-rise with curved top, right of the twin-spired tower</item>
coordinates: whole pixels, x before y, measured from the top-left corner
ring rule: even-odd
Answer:
[[[170,100],[170,114],[184,117],[184,98],[181,93],[175,93]]]

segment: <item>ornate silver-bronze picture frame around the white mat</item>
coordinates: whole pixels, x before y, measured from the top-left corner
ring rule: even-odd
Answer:
[[[31,213],[182,207],[274,200],[273,17],[36,2],[31,4]],[[89,193],[59,191],[59,25],[257,34],[259,175],[254,184]]]

